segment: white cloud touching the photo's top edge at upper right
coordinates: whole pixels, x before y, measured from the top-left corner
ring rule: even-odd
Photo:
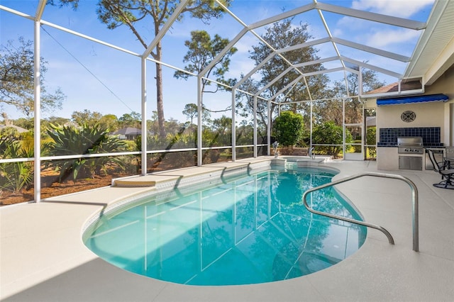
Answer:
[[[433,4],[434,0],[355,0],[353,9],[373,11],[389,16],[409,18],[425,6]]]

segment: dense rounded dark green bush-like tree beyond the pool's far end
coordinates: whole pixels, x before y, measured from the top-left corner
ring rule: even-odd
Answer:
[[[275,118],[273,130],[273,134],[279,144],[283,146],[295,145],[303,135],[303,117],[292,111],[281,112]]]

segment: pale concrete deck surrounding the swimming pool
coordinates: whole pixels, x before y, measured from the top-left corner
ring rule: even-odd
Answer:
[[[231,169],[271,157],[219,163]],[[296,279],[247,286],[184,286],[138,276],[99,259],[82,242],[89,218],[152,187],[112,186],[0,208],[1,301],[454,301],[454,190],[431,171],[378,171],[375,162],[326,162],[341,171],[399,174],[419,191],[419,250],[412,250],[411,190],[404,181],[362,177],[336,186],[369,229],[358,252]],[[200,174],[194,167],[177,173]],[[190,171],[190,172],[188,172]],[[175,172],[172,172],[175,177]],[[181,178],[181,177],[180,177]],[[144,180],[144,179],[143,179]],[[153,181],[147,177],[146,181]]]

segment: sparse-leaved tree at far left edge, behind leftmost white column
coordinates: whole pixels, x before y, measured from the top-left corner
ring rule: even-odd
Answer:
[[[41,109],[55,111],[62,108],[66,96],[60,88],[52,94],[46,92],[44,75],[47,72],[47,62],[40,58]],[[0,45],[0,105],[16,107],[17,111],[30,117],[35,101],[33,42],[18,38],[18,45],[9,40],[6,45]]]

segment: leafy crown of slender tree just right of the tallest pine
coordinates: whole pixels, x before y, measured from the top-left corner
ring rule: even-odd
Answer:
[[[200,74],[218,55],[221,50],[223,50],[230,41],[228,39],[221,38],[220,35],[214,35],[213,40],[209,33],[205,30],[194,30],[191,32],[191,40],[186,40],[184,45],[188,47],[187,54],[184,56],[183,62],[189,62],[189,65],[184,67],[187,71]],[[228,52],[226,52],[221,60],[218,60],[216,64],[209,69],[204,77],[208,78],[211,74],[216,77],[217,82],[228,84],[232,82],[232,79],[225,80],[224,74],[228,72],[228,65],[230,65],[230,57],[237,51],[236,47],[232,47]],[[188,79],[190,74],[186,72],[177,71],[174,74],[174,77],[177,79]],[[210,86],[211,81],[203,78],[201,80],[202,92],[211,92],[215,93],[218,89],[224,89],[223,86],[217,85],[216,90],[207,91],[206,86]]]

